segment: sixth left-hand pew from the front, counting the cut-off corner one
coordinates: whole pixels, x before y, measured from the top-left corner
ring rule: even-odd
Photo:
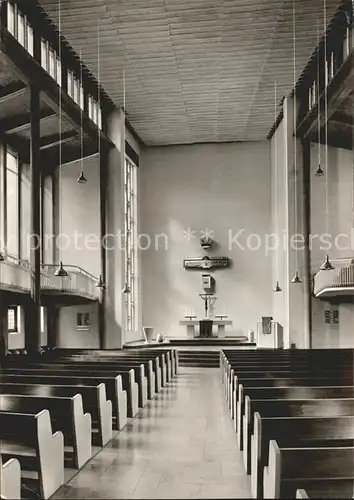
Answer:
[[[16,373],[22,375],[58,375],[58,376],[69,376],[69,377],[95,377],[99,383],[105,382],[106,378],[115,378],[120,376],[120,382],[122,384],[122,390],[126,391],[127,397],[127,415],[128,417],[135,417],[138,413],[139,409],[139,388],[138,384],[135,382],[135,373],[134,370],[126,370],[124,369],[116,369],[113,371],[99,370],[99,369],[91,369],[91,370],[82,370],[80,366],[76,368],[71,368],[68,370],[62,367],[61,369],[57,369],[55,367],[52,368],[4,368],[2,370],[3,374],[6,375],[14,375]]]

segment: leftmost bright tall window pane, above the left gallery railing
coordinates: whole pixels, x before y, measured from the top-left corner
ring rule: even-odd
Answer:
[[[15,153],[6,151],[7,251],[19,257],[19,168]]]

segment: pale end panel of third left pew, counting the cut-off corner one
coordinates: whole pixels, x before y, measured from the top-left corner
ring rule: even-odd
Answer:
[[[75,461],[76,467],[81,469],[92,457],[92,419],[89,413],[84,413],[81,394],[73,397],[73,419]]]

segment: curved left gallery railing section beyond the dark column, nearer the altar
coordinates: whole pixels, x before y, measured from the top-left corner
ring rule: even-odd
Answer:
[[[57,265],[46,264],[41,271],[41,290],[43,292],[61,292],[69,295],[80,295],[92,300],[100,298],[98,279],[81,267],[65,265],[67,276],[55,276]]]

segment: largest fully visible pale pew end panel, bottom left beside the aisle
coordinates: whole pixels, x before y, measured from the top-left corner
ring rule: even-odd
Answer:
[[[60,431],[52,433],[48,410],[43,410],[35,418],[40,461],[40,492],[44,499],[48,499],[64,484],[64,435]]]

